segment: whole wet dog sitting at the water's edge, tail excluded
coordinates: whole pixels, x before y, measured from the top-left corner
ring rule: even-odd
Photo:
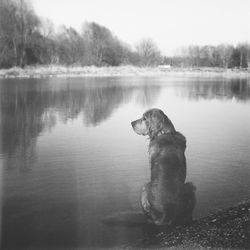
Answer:
[[[150,139],[151,181],[141,194],[148,221],[155,225],[189,222],[195,205],[195,187],[185,183],[185,137],[159,109],[148,110],[131,124],[137,134]]]

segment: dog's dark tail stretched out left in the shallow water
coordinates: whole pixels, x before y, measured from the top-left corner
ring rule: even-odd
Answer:
[[[123,211],[106,216],[102,222],[107,226],[136,227],[147,224],[147,219],[142,212]]]

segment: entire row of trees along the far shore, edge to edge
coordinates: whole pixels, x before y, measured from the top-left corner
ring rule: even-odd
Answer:
[[[189,46],[163,57],[150,38],[135,48],[108,28],[85,22],[81,31],[37,16],[28,0],[0,0],[0,68],[26,65],[118,66],[124,64],[175,67],[247,68],[250,44]]]

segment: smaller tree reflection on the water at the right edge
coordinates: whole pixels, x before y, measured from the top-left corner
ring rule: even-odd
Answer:
[[[181,88],[176,88],[178,95],[189,99],[250,99],[250,82],[247,79],[204,81],[194,79]]]

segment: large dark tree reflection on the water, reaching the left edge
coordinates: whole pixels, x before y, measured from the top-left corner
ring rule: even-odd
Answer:
[[[138,101],[145,104],[153,102],[157,89],[117,82],[95,86],[83,83],[80,87],[62,84],[53,89],[53,84],[34,80],[6,81],[0,88],[2,151],[9,157],[15,154],[17,161],[21,157],[26,165],[29,165],[30,155],[35,155],[37,136],[44,130],[51,130],[58,118],[67,122],[82,113],[86,125],[97,125],[129,101],[135,90],[139,90]]]

